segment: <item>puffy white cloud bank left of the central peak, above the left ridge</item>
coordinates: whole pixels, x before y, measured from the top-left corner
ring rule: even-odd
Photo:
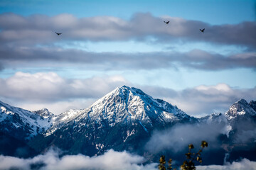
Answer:
[[[87,108],[118,86],[129,85],[119,75],[88,79],[63,79],[54,72],[36,74],[17,72],[0,79],[1,100],[35,111],[48,108],[58,115],[68,109]]]

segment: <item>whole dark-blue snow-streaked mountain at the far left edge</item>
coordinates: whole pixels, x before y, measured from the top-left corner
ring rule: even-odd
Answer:
[[[27,145],[32,137],[50,128],[50,118],[0,101],[0,154],[31,157],[38,152]]]

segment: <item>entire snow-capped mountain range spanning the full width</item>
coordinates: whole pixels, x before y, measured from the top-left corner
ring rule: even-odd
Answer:
[[[60,115],[53,115],[46,108],[26,111],[0,101],[0,154],[32,157],[58,147],[63,154],[94,156],[114,149],[146,155],[152,160],[163,153],[152,154],[144,149],[154,132],[202,123],[225,126],[218,135],[218,153],[209,155],[256,160],[255,101],[241,99],[224,114],[194,118],[171,103],[128,86],[114,89],[89,108]]]

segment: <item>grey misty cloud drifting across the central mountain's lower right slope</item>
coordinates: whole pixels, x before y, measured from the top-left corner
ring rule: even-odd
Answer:
[[[218,135],[226,134],[227,130],[225,118],[220,119],[220,123],[175,125],[168,130],[154,132],[149,142],[146,143],[146,150],[154,154],[164,150],[181,152],[191,143],[195,146],[201,145],[202,140],[210,144],[208,149],[215,149],[218,147]]]

